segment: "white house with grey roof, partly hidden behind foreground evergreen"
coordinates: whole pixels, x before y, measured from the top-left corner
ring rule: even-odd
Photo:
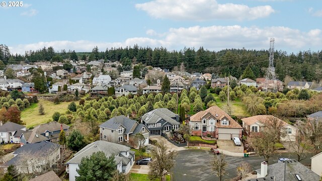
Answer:
[[[116,168],[121,173],[128,173],[134,164],[135,151],[131,151],[130,147],[108,141],[95,141],[79,150],[74,154],[74,157],[67,161],[66,172],[69,173],[69,181],[74,181],[75,176],[78,176],[76,169],[78,169],[82,158],[89,157],[98,151],[103,151],[107,157],[114,155]]]

